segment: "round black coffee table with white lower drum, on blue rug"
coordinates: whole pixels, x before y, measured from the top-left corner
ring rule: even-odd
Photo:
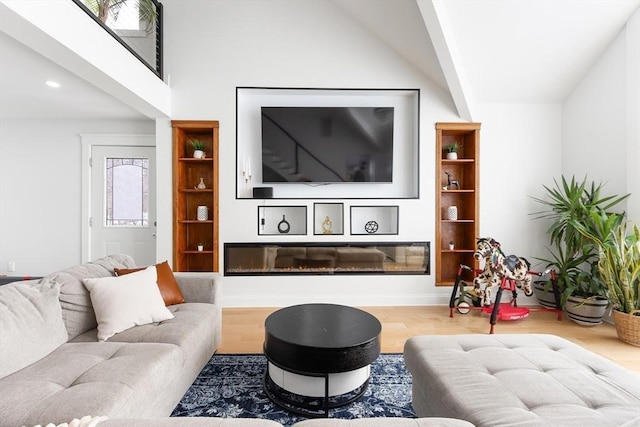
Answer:
[[[371,314],[336,304],[302,304],[265,320],[267,396],[305,416],[358,399],[380,354],[382,326]]]

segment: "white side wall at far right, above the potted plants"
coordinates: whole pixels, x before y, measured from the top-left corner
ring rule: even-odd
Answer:
[[[640,224],[640,11],[565,100],[562,173],[603,182]]]

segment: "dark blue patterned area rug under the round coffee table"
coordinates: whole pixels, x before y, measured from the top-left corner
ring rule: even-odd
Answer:
[[[214,355],[171,416],[264,418],[284,426],[304,420],[269,400],[262,388],[266,367],[263,355]],[[331,409],[329,416],[415,417],[411,408],[411,374],[402,354],[381,354],[371,365],[365,394],[351,404]]]

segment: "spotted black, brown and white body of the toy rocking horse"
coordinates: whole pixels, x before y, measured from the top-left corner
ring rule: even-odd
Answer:
[[[482,298],[484,306],[491,305],[491,289],[500,286],[505,278],[515,280],[516,286],[521,288],[526,296],[533,294],[529,274],[531,263],[526,258],[517,255],[506,256],[500,249],[500,243],[491,237],[478,239],[473,257],[478,261],[485,261],[482,273],[473,279],[473,287]]]

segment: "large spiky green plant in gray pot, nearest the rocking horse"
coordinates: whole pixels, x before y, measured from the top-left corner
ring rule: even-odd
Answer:
[[[629,195],[604,195],[603,184],[588,183],[586,177],[578,181],[575,177],[569,180],[562,176],[560,182],[554,179],[554,184],[553,187],[543,185],[546,198],[533,198],[547,207],[533,215],[550,221],[547,234],[552,246],[551,258],[537,259],[556,271],[560,304],[568,317],[581,325],[597,325],[602,323],[609,305],[607,288],[600,279],[597,246],[578,230],[578,225],[593,230],[593,213],[610,212]],[[611,213],[610,216],[617,225],[624,220],[623,214]],[[549,300],[550,288],[550,281],[534,285],[541,301]]]

